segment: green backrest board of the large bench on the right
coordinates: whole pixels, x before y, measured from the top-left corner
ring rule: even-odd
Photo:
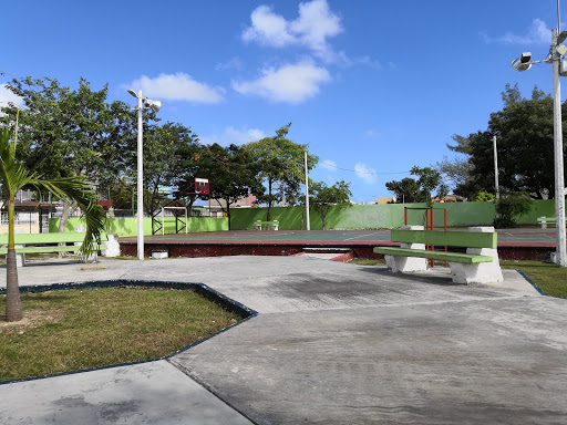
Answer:
[[[392,229],[392,242],[427,243],[447,247],[496,249],[497,234],[477,231],[399,230]]]

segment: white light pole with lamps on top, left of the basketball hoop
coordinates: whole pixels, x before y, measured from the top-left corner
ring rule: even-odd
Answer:
[[[144,147],[142,143],[143,137],[143,116],[142,111],[144,105],[146,108],[151,108],[154,112],[159,111],[162,102],[151,101],[147,97],[142,96],[140,90],[136,94],[133,90],[128,90],[128,93],[137,99],[137,259],[144,260]]]

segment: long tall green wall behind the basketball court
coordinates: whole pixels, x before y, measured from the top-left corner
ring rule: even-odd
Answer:
[[[386,205],[353,205],[343,209],[331,209],[326,219],[327,229],[375,229],[394,228],[404,224],[404,207],[409,208],[408,222],[422,225],[424,210],[412,209],[424,207],[424,204],[386,204]],[[494,220],[494,203],[451,203],[436,204],[433,219],[435,227],[443,227],[444,211],[447,210],[447,226],[491,226]],[[267,208],[231,208],[231,228],[254,229],[256,220],[266,220]],[[301,207],[274,207],[271,219],[279,221],[281,230],[301,229]],[[322,229],[319,215],[311,209],[311,229]],[[555,216],[553,200],[532,201],[532,211],[522,217],[519,224],[536,225],[540,216]],[[303,226],[305,228],[305,226]]]

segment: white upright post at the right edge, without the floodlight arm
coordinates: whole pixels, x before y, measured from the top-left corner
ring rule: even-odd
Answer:
[[[551,30],[551,59],[554,64],[554,153],[555,153],[555,222],[556,222],[556,258],[560,267],[567,266],[565,255],[565,182],[563,168],[563,129],[561,129],[561,86],[559,83],[559,64],[561,55],[557,52],[559,30]]]

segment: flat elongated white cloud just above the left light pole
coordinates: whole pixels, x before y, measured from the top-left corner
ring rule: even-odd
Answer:
[[[189,101],[198,103],[219,103],[224,100],[223,87],[212,87],[199,83],[184,72],[159,74],[155,79],[142,75],[130,84],[124,85],[134,91],[142,90],[144,95],[156,100]]]

